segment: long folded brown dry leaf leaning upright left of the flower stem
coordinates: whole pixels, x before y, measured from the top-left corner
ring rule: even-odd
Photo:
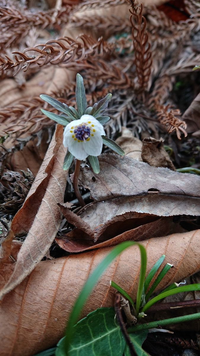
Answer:
[[[46,157],[22,208],[12,220],[14,234],[28,232],[9,281],[1,290],[5,295],[35,268],[46,254],[59,229],[62,214],[57,203],[62,202],[66,187],[66,171],[62,164],[65,150],[62,145],[63,126],[57,125]]]

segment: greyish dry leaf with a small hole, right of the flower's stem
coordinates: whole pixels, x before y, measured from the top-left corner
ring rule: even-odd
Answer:
[[[100,173],[83,169],[80,181],[95,200],[95,214],[102,209],[170,215],[199,215],[200,177],[155,168],[113,153],[99,157]],[[105,205],[104,205],[105,204]],[[103,208],[104,205],[104,208]]]

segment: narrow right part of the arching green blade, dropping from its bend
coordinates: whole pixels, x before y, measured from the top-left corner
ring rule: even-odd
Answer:
[[[140,277],[139,283],[137,288],[137,297],[136,297],[136,313],[138,315],[140,310],[140,304],[142,302],[142,294],[144,293],[144,280],[147,271],[147,253],[146,249],[142,245],[138,245],[140,248],[140,255],[141,255],[141,265],[140,265]]]

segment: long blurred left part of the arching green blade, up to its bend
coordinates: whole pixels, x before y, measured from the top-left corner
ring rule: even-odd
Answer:
[[[89,278],[85,282],[81,292],[78,295],[78,298],[74,304],[74,307],[72,309],[72,312],[70,313],[69,316],[69,321],[67,324],[67,329],[66,329],[66,341],[65,341],[65,352],[66,355],[68,354],[69,350],[69,345],[73,337],[74,333],[74,328],[73,326],[77,323],[80,312],[89,297],[91,291],[93,290],[95,284],[98,282],[99,278],[101,277],[102,273],[106,270],[106,268],[110,265],[110,263],[127,247],[136,245],[138,247],[143,246],[137,244],[137,242],[133,241],[125,241],[122,242],[121,244],[117,245],[116,247],[113,248],[113,250],[102,260],[99,265],[95,268],[95,270],[90,274]]]

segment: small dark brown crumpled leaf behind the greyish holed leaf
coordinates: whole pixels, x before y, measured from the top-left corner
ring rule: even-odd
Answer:
[[[163,146],[162,139],[153,137],[144,138],[142,141],[142,160],[153,167],[164,167],[175,171],[175,167]]]

